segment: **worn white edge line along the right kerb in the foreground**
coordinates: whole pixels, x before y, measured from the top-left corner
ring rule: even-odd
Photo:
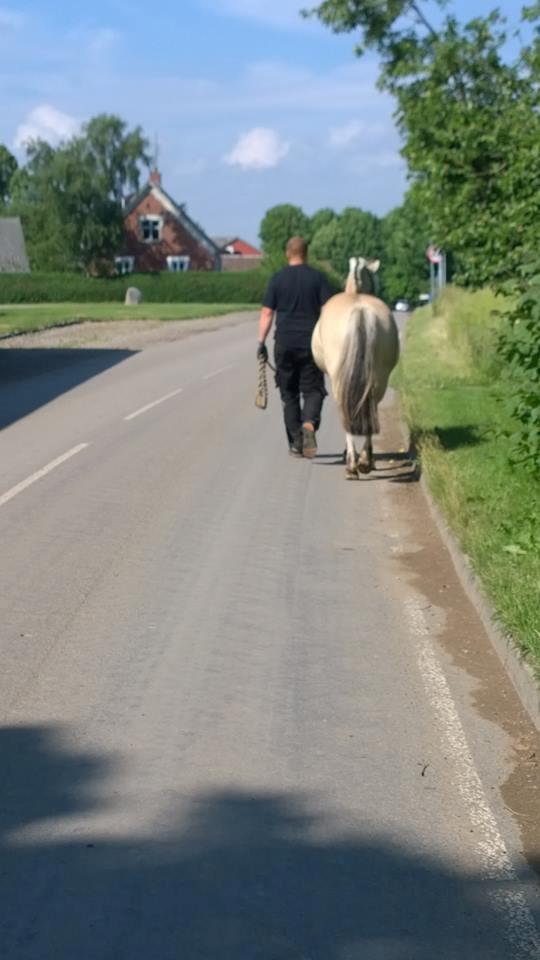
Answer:
[[[497,826],[471,755],[463,724],[448,681],[429,639],[429,627],[416,599],[405,601],[411,632],[416,639],[417,662],[428,698],[443,731],[454,763],[456,784],[477,835],[477,850],[487,880],[495,885],[490,899],[501,915],[513,960],[540,957],[540,937],[520,881]],[[511,884],[514,889],[509,889]]]

